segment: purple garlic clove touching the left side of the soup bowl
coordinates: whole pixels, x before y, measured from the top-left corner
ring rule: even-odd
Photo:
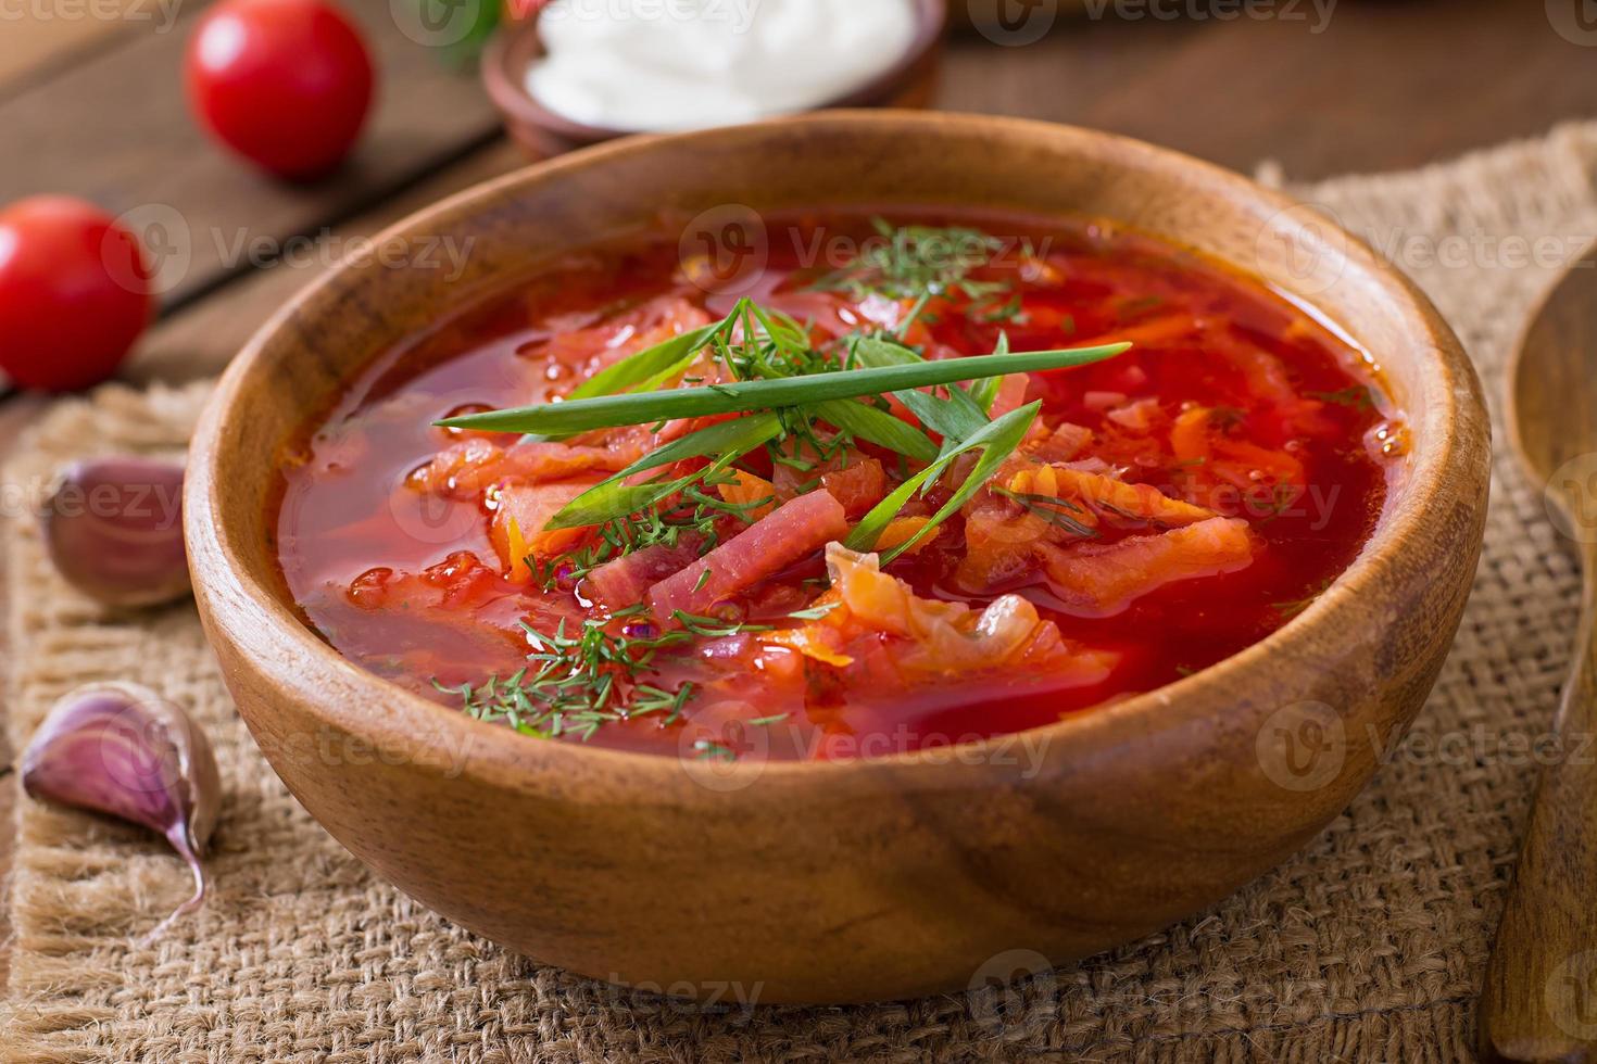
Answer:
[[[188,593],[184,467],[118,456],[61,471],[40,510],[56,571],[109,606],[157,606]]]

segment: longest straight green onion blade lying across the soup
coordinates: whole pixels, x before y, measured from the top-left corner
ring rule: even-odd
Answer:
[[[905,388],[953,384],[1003,373],[1032,373],[1086,365],[1112,359],[1131,345],[1112,343],[1097,348],[1065,351],[1032,351],[1025,354],[982,354],[968,359],[942,359],[915,365],[840,370],[779,380],[736,381],[709,388],[672,388],[628,396],[597,396],[559,404],[541,404],[516,410],[473,413],[446,418],[436,424],[452,429],[487,432],[541,432],[548,435],[586,432],[623,424],[653,424],[671,418],[701,418],[717,413],[776,410],[824,402],[880,396]]]

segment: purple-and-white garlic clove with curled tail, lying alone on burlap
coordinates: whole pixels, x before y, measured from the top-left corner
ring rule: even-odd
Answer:
[[[222,804],[222,777],[204,732],[149,688],[102,683],[67,694],[22,753],[29,798],[91,809],[166,836],[188,863],[195,893],[150,932],[204,901],[200,861]]]

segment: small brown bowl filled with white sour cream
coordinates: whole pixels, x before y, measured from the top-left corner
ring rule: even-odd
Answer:
[[[929,102],[947,0],[548,0],[482,80],[535,158],[634,132]]]

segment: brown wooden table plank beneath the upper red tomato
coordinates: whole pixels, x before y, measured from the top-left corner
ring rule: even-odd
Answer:
[[[182,53],[200,5],[171,32],[118,38],[80,67],[0,100],[0,203],[72,193],[131,223],[155,247],[168,305],[246,273],[297,234],[350,217],[498,134],[476,75],[401,32],[388,0],[345,6],[378,64],[377,100],[355,153],[327,180],[271,180],[192,121]],[[160,227],[149,233],[149,227]]]

